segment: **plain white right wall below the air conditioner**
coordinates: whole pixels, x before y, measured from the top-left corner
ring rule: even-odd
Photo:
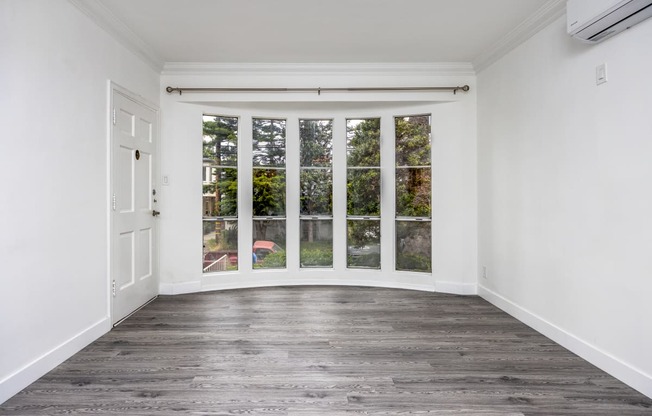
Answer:
[[[564,17],[478,74],[480,294],[648,396],[651,39]]]

